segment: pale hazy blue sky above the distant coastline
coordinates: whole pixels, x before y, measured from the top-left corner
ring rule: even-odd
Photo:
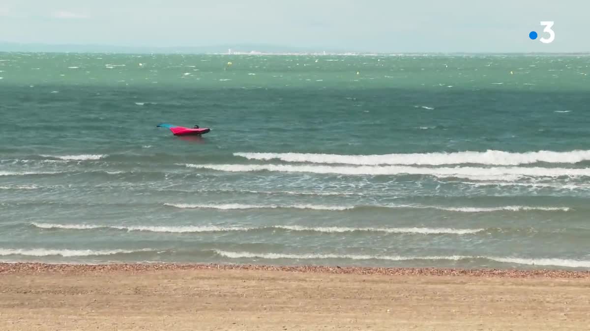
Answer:
[[[0,41],[276,44],[375,52],[590,51],[590,0],[0,0]],[[530,40],[555,21],[555,41]]]

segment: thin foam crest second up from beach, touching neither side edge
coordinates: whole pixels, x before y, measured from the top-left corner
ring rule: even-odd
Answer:
[[[475,234],[485,229],[450,229],[428,227],[307,227],[307,226],[102,226],[96,224],[54,224],[31,223],[32,226],[41,229],[68,229],[68,230],[92,230],[92,229],[116,229],[126,231],[150,231],[162,233],[199,233],[199,232],[230,232],[253,230],[289,230],[310,231],[319,233],[346,233],[346,232],[376,232],[376,233],[407,233],[407,234]]]

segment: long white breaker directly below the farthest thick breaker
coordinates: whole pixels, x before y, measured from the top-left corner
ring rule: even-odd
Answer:
[[[227,172],[278,171],[284,173],[315,173],[344,175],[429,175],[438,178],[470,178],[473,180],[518,180],[523,177],[590,176],[590,168],[543,167],[408,167],[408,166],[295,166],[291,164],[185,164],[185,167]]]

